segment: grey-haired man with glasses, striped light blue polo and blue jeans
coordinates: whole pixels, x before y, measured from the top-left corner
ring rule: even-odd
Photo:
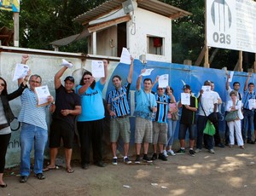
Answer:
[[[27,59],[21,63],[25,64]],[[27,78],[20,78],[19,85],[27,81]],[[21,110],[18,121],[21,123],[20,131],[20,182],[26,182],[30,175],[30,153],[34,146],[34,167],[35,177],[44,180],[43,164],[44,164],[44,147],[48,138],[48,128],[46,123],[46,112],[54,111],[54,98],[49,95],[48,106],[38,107],[37,95],[35,88],[41,86],[42,78],[38,75],[32,75],[29,79],[30,89],[25,89],[20,96]]]

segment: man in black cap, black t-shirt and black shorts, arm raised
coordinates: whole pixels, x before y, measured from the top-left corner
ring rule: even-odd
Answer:
[[[73,173],[70,165],[72,157],[72,147],[74,138],[75,117],[81,113],[81,103],[79,95],[73,91],[74,78],[65,78],[65,85],[61,84],[61,76],[67,70],[68,65],[61,67],[55,74],[55,112],[52,116],[49,132],[49,154],[50,164],[44,169],[53,170],[56,168],[55,159],[58,147],[61,147],[61,139],[65,148],[66,170]]]

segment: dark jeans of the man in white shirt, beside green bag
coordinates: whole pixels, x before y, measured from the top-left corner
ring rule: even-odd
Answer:
[[[203,132],[206,128],[208,118],[206,116],[198,116],[197,119],[197,140],[196,140],[196,148],[202,148],[202,141],[203,141]],[[213,149],[213,136],[212,135],[205,135],[205,139],[207,141],[207,148]]]

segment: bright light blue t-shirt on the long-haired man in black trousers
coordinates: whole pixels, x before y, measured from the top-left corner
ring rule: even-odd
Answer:
[[[82,86],[79,85],[76,89],[77,94],[79,94],[79,89]],[[95,88],[90,87],[84,92],[84,94],[79,95],[81,97],[81,107],[82,112],[78,117],[79,122],[99,120],[104,118],[104,105],[102,100],[102,89],[104,84],[101,84],[99,80],[96,82]]]

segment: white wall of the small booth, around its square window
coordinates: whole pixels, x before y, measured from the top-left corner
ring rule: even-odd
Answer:
[[[146,55],[149,61],[172,62],[172,20],[145,9],[134,11],[135,24],[128,22],[127,48],[136,58]],[[135,30],[135,31],[134,31]],[[135,32],[134,35],[131,32]],[[147,36],[164,37],[164,55],[147,54]]]

